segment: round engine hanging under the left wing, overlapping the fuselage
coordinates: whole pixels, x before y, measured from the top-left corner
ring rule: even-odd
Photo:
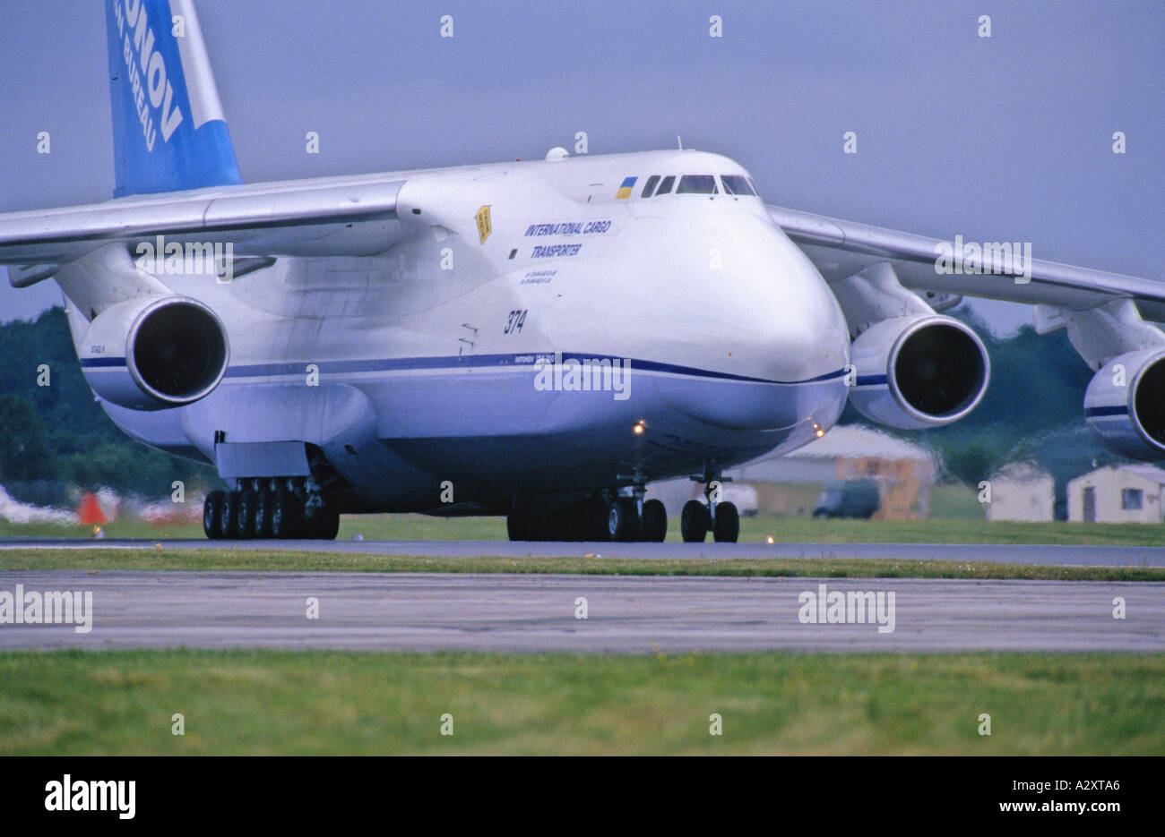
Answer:
[[[226,374],[226,329],[188,297],[146,297],[98,314],[77,347],[90,386],[133,410],[164,410],[207,395]]]

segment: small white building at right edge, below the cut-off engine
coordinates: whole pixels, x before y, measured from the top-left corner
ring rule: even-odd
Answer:
[[[1068,520],[1162,523],[1165,470],[1151,464],[1097,468],[1068,482]]]

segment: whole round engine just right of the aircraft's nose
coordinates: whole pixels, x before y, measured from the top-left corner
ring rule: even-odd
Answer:
[[[987,391],[990,361],[983,341],[951,317],[882,320],[849,352],[855,380],[849,402],[866,418],[902,430],[961,419]]]

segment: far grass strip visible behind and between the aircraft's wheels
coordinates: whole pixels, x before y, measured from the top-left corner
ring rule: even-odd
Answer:
[[[679,542],[679,518],[668,522],[668,540]],[[346,515],[339,538],[368,540],[506,540],[501,517],[437,518],[424,515]],[[200,526],[160,529],[139,520],[105,526],[107,538],[202,539]],[[91,527],[0,522],[0,537],[89,538]],[[1067,544],[1165,546],[1165,526],[1150,524],[1004,523],[972,518],[925,520],[814,520],[760,515],[741,519],[740,539],[778,544]]]

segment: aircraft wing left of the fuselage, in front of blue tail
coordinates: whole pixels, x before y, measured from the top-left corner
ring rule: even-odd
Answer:
[[[236,256],[375,255],[400,239],[383,175],[143,194],[104,204],[0,214],[0,265],[24,288],[110,242],[231,241]]]

